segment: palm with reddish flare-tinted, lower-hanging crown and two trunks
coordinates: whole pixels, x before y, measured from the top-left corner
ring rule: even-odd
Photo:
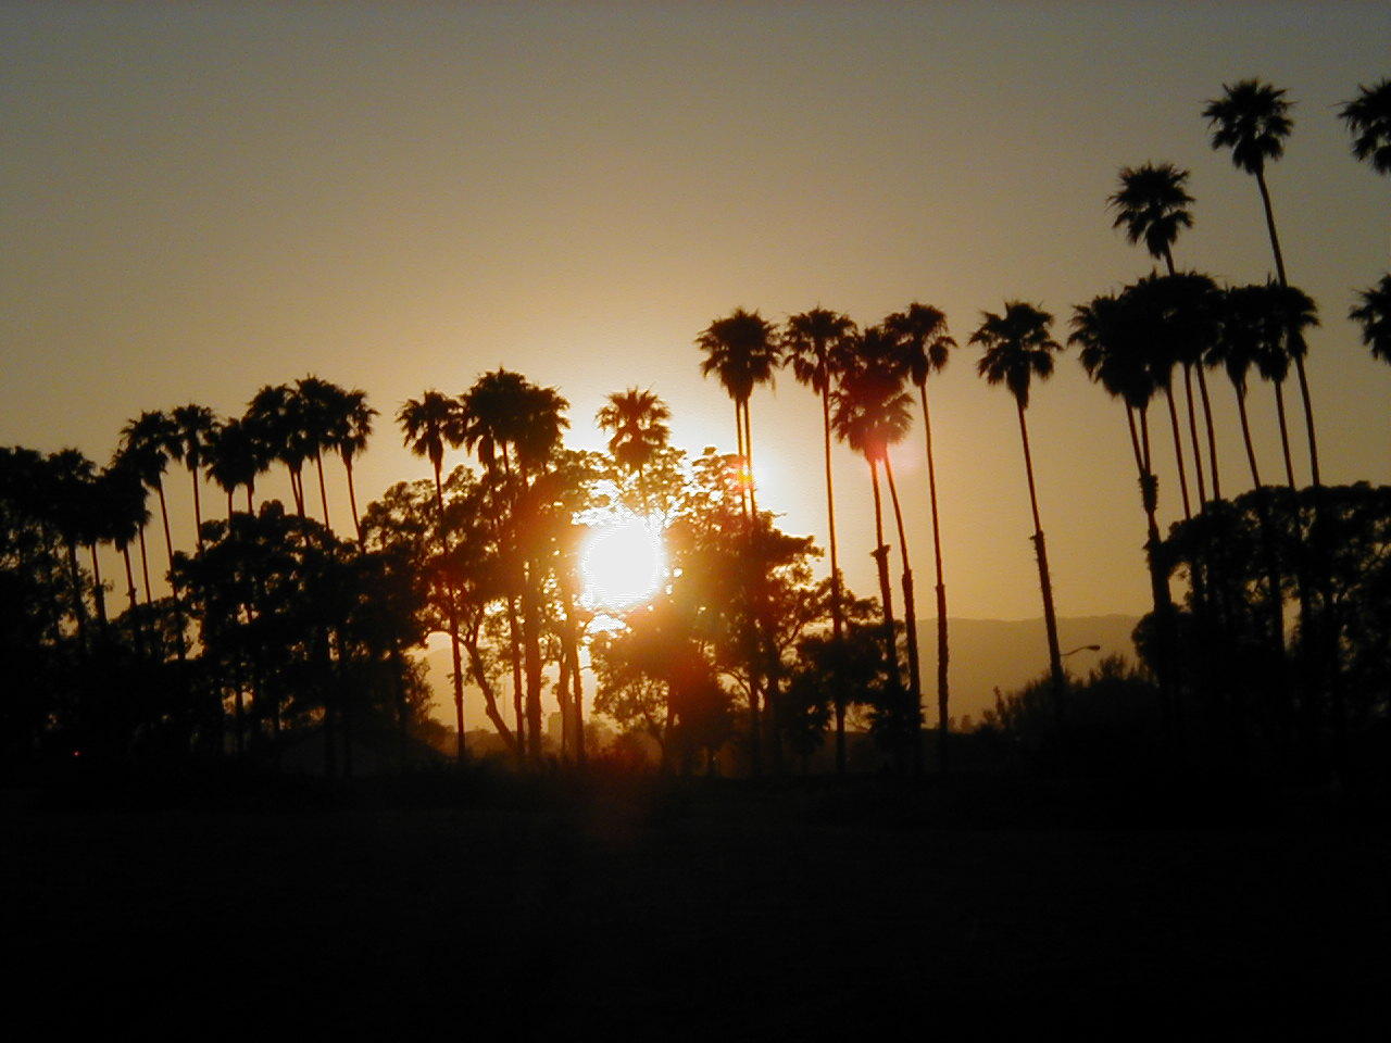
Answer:
[[[853,363],[840,377],[833,394],[832,430],[869,464],[869,483],[875,505],[875,551],[879,573],[879,597],[883,599],[885,662],[889,668],[890,698],[897,709],[901,701],[911,711],[912,734],[921,725],[921,679],[917,670],[917,612],[912,605],[912,569],[908,565],[908,544],[903,527],[897,485],[889,446],[903,441],[912,426],[912,396],[903,389],[896,362],[901,349],[897,337],[882,325],[869,327],[855,338]],[[904,694],[899,673],[897,630],[893,620],[893,590],[889,584],[889,545],[883,540],[883,508],[879,494],[879,464],[883,464],[899,527],[899,551],[903,559],[904,617],[907,622],[907,652],[910,691]],[[904,723],[908,723],[907,720]],[[921,741],[917,744],[921,751]],[[914,752],[914,765],[919,754]]]

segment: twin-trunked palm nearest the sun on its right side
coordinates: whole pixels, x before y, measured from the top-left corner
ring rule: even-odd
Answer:
[[[758,312],[746,312],[736,307],[723,318],[716,318],[705,327],[696,338],[696,346],[705,352],[701,362],[701,375],[715,374],[725,392],[734,402],[734,435],[736,452],[740,459],[743,474],[740,476],[740,505],[748,528],[750,556],[753,558],[754,534],[758,519],[758,494],[754,483],[754,448],[753,424],[750,421],[748,399],[754,388],[759,384],[772,384],[773,370],[780,360],[776,331]],[[762,577],[753,579],[750,604],[751,617],[755,631],[761,631],[761,640],[753,642],[761,648],[754,654],[754,659],[762,659],[766,647],[771,644],[772,630],[765,619],[765,597],[762,591]],[[771,673],[771,672],[769,672]],[[758,775],[762,769],[762,748],[759,733],[762,718],[759,700],[764,698],[764,670],[757,662],[750,662],[750,757],[753,770]],[[766,679],[771,687],[771,677]],[[772,693],[768,691],[768,695]]]

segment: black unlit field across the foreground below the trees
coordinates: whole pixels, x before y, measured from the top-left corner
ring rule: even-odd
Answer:
[[[1207,1035],[1384,1011],[1391,967],[1387,834],[1328,794],[494,777],[8,805],[6,985],[53,1029]]]

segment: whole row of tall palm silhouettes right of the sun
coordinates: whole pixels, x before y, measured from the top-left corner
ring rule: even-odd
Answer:
[[[1255,367],[1274,387],[1285,478],[1294,487],[1295,471],[1289,451],[1283,385],[1289,369],[1295,370],[1303,406],[1312,481],[1316,488],[1320,484],[1313,405],[1303,364],[1308,349],[1305,331],[1317,324],[1317,314],[1313,300],[1288,284],[1266,181],[1267,164],[1283,156],[1284,139],[1294,125],[1289,108],[1291,103],[1285,100],[1284,90],[1257,79],[1246,79],[1230,86],[1224,85],[1223,95],[1209,102],[1203,110],[1203,117],[1212,129],[1212,146],[1230,149],[1234,165],[1256,179],[1274,254],[1276,281],[1220,289],[1206,275],[1180,273],[1174,264],[1173,246],[1178,234],[1193,224],[1189,209],[1193,197],[1187,191],[1189,174],[1171,164],[1143,164],[1120,171],[1120,188],[1107,202],[1116,211],[1114,227],[1124,228],[1132,243],[1143,242],[1149,254],[1164,263],[1166,275],[1152,274],[1127,286],[1121,293],[1099,296],[1074,310],[1070,342],[1081,346],[1081,362],[1093,380],[1097,380],[1110,394],[1120,396],[1127,406],[1149,530],[1146,547],[1150,556],[1155,608],[1160,620],[1171,616],[1173,602],[1168,594],[1167,573],[1155,556],[1160,544],[1160,533],[1156,517],[1157,478],[1150,449],[1148,407],[1159,394],[1163,394],[1174,439],[1184,517],[1191,519],[1193,515],[1175,405],[1175,369],[1182,371],[1199,510],[1209,502],[1209,476],[1212,478],[1212,498],[1221,499],[1223,495],[1213,410],[1205,375],[1206,370],[1213,367],[1225,370],[1232,382],[1252,483],[1256,488],[1260,488],[1262,480],[1246,414],[1248,374]],[[1374,88],[1360,88],[1359,97],[1344,106],[1342,118],[1353,132],[1353,153],[1358,159],[1370,159],[1378,172],[1391,170],[1391,81],[1383,81]],[[1391,346],[1388,346],[1387,339],[1388,327],[1391,327],[1388,298],[1391,298],[1391,275],[1384,277],[1378,286],[1362,292],[1363,303],[1352,310],[1351,317],[1362,324],[1363,339],[1372,346],[1373,353],[1391,359]],[[1061,349],[1061,345],[1052,337],[1052,316],[1040,307],[1020,300],[1006,302],[1000,313],[982,313],[982,321],[971,334],[970,343],[985,349],[978,363],[979,374],[989,384],[1003,384],[1015,402],[1034,520],[1031,540],[1035,545],[1043,601],[1049,674],[1054,691],[1054,706],[1061,713],[1064,676],[1027,421],[1031,384],[1035,378],[1046,380],[1052,374],[1053,353]],[[949,720],[947,604],[942,567],[936,460],[932,452],[932,423],[926,394],[928,375],[946,366],[949,352],[956,346],[947,332],[944,316],[939,309],[914,302],[904,312],[886,317],[878,325],[860,330],[849,316],[815,307],[790,316],[779,328],[762,318],[758,312],[736,309],[732,314],[712,321],[701,331],[696,343],[705,355],[701,363],[702,375],[715,374],[734,402],[736,445],[739,456],[746,462],[746,495],[747,512],[750,513],[757,513],[750,413],[750,398],[754,388],[759,384],[769,384],[779,366],[790,366],[798,382],[810,387],[821,399],[826,524],[833,591],[832,626],[837,638],[842,634],[843,623],[830,466],[832,434],[865,456],[869,464],[875,503],[876,547],[874,556],[879,570],[886,655],[890,663],[896,663],[893,591],[887,574],[889,547],[883,538],[878,477],[879,466],[883,466],[899,530],[901,588],[908,631],[907,700],[914,708],[914,715],[917,715],[921,679],[917,656],[912,570],[887,448],[901,441],[911,426],[910,396],[904,387],[908,381],[917,385],[926,445],[938,609],[938,705],[939,727],[944,740]],[[1198,434],[1198,407],[1193,398],[1195,377],[1207,435],[1206,470],[1203,446]],[[1161,636],[1160,644],[1171,644],[1171,636],[1167,636],[1167,640],[1166,636]],[[897,665],[890,673],[897,683]],[[1160,680],[1166,683],[1167,677],[1161,676]],[[842,763],[843,729],[843,706],[837,706],[837,761]]]

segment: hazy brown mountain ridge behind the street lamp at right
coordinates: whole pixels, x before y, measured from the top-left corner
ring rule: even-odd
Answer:
[[[1057,620],[1061,651],[1100,645],[1102,651],[1081,651],[1063,661],[1075,676],[1106,655],[1135,662],[1131,633],[1139,616],[1068,616]],[[995,690],[1008,694],[1047,672],[1047,633],[1038,619],[957,619],[947,616],[949,713],[958,722],[995,705]],[[922,704],[926,723],[936,725],[938,711],[938,620],[918,620],[918,648],[922,659]]]

